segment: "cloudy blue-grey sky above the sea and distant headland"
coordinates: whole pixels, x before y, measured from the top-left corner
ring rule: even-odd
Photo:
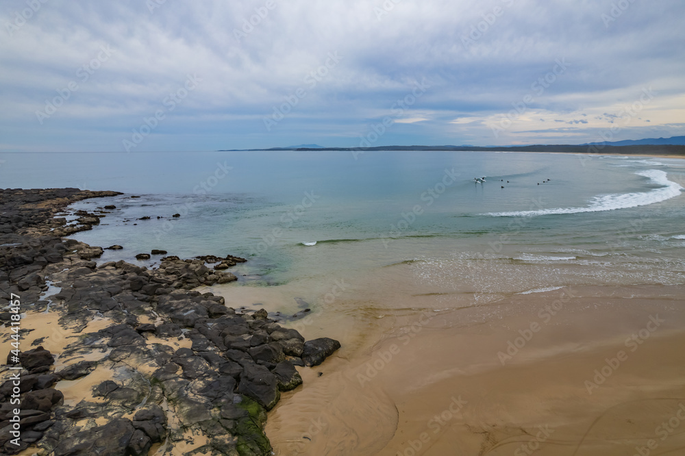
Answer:
[[[682,0],[3,0],[0,151],[685,135]]]

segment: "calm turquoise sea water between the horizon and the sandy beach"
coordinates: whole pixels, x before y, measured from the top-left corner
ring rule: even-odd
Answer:
[[[240,285],[280,286],[284,302],[324,305],[335,279],[378,301],[460,293],[476,303],[573,284],[685,283],[677,159],[395,151],[1,159],[5,188],[125,192],[73,206],[116,205],[75,236],[124,246],[101,261],[135,262],[151,249],[230,253],[250,259],[236,269]]]

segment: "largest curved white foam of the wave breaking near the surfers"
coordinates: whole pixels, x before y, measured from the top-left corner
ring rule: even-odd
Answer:
[[[645,206],[675,198],[680,195],[680,191],[683,190],[677,182],[669,181],[665,171],[651,169],[640,171],[636,174],[649,177],[653,183],[662,187],[649,190],[649,192],[601,195],[590,200],[590,205],[586,207],[558,207],[556,209],[543,209],[539,211],[490,212],[486,215],[495,217],[531,217],[538,215],[578,214],[579,212],[601,212],[627,209],[628,207]]]

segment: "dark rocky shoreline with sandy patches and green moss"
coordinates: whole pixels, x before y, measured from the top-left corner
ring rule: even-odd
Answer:
[[[168,256],[157,269],[97,266],[103,249],[63,236],[99,224],[105,208],[79,212],[75,223],[55,214],[119,194],[0,190],[0,347],[9,353],[0,368],[0,453],[30,445],[57,456],[271,454],[266,411],[302,383],[295,366],[321,364],[340,344],[306,342],[264,309],[236,312],[221,296],[192,290],[235,280],[225,269],[244,260],[231,255]],[[18,363],[10,352],[16,296],[22,320],[58,316],[51,335],[18,331]],[[60,353],[43,348],[51,339]],[[65,401],[64,388],[84,377],[89,390]]]

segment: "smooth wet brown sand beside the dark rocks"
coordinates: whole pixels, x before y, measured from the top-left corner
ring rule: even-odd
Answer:
[[[360,316],[358,331],[320,315],[303,335],[337,327],[343,349],[269,414],[275,454],[682,454],[685,288],[568,292]]]

